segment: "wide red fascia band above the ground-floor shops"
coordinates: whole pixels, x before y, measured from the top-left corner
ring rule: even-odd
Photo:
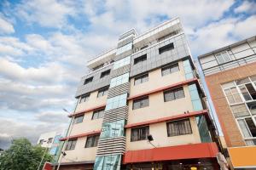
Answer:
[[[216,157],[218,146],[216,143],[184,144],[148,150],[126,151],[123,163],[147,161],[172,161],[181,159],[212,158]]]

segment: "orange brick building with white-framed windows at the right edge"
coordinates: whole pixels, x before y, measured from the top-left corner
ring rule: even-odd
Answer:
[[[256,37],[203,54],[199,61],[233,166],[255,169]]]

